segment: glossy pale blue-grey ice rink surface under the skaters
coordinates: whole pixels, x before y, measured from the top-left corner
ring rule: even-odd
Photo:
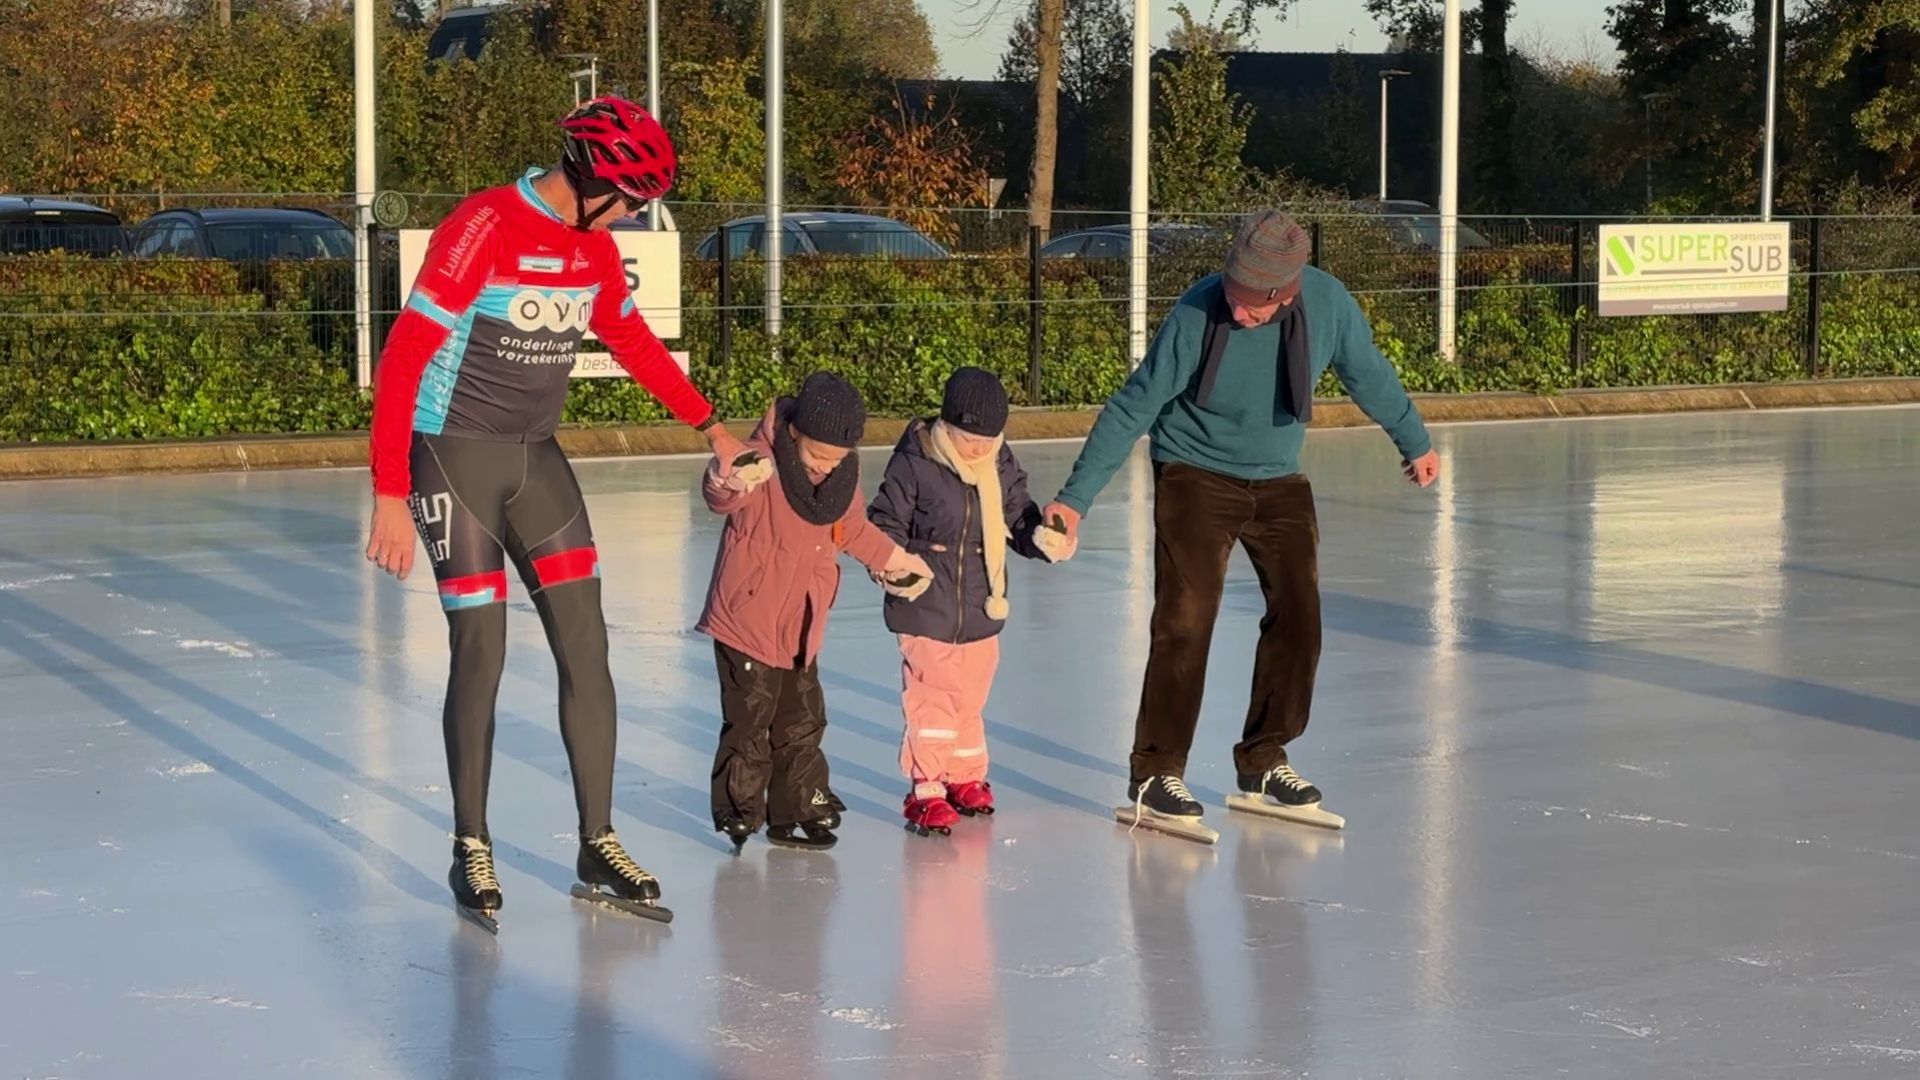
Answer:
[[[899,653],[847,575],[826,855],[710,830],[697,461],[580,465],[614,821],[672,926],[568,899],[553,665],[513,584],[497,940],[447,899],[445,638],[359,471],[0,486],[0,1076],[1897,1076],[1920,1070],[1920,411],[1309,438],[1327,650],[1300,771],[1229,815],[1236,557],[1188,780],[1114,824],[1144,454],[1014,569],[1000,815],[899,822]],[[1025,446],[1050,496],[1075,446]],[[881,455],[870,455],[868,488]],[[851,563],[849,563],[851,567]]]

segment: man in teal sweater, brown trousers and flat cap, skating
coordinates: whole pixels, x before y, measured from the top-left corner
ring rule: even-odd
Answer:
[[[1321,799],[1286,759],[1286,744],[1308,726],[1321,650],[1319,525],[1300,473],[1319,377],[1332,367],[1400,448],[1409,480],[1427,486],[1440,475],[1427,425],[1373,346],[1359,304],[1306,265],[1309,250],[1288,215],[1250,217],[1225,273],[1187,290],[1162,323],[1046,507],[1048,521],[1077,536],[1135,440],[1152,436],[1154,619],[1127,792],[1148,817],[1198,822],[1202,813],[1183,776],[1235,544],[1246,548],[1267,601],[1252,705],[1233,749],[1238,788],[1309,815]]]

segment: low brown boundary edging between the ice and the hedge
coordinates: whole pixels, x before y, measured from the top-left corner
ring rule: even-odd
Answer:
[[[1428,423],[1622,417],[1657,413],[1803,409],[1830,405],[1920,404],[1920,379],[1845,379],[1820,382],[1753,382],[1567,390],[1561,394],[1415,394]],[[1016,409],[1010,440],[1083,438],[1098,409]],[[745,421],[743,421],[745,423]],[[1313,427],[1371,423],[1344,398],[1313,405]],[[876,417],[866,446],[893,446],[906,421]],[[739,430],[739,425],[735,425]],[[701,454],[705,440],[682,425],[591,427],[561,430],[574,457],[645,457]],[[0,480],[58,477],[127,477],[142,473],[221,473],[257,469],[340,469],[367,465],[367,432],[236,436],[167,442],[71,442],[0,448]]]

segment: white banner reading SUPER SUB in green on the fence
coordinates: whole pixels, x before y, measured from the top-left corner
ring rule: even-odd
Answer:
[[[1601,315],[1786,311],[1784,221],[1599,227]]]

